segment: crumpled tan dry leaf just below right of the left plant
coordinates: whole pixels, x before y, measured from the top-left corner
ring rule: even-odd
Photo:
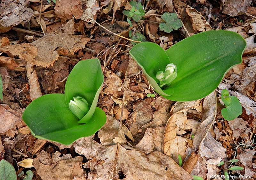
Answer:
[[[98,137],[104,146],[114,145],[117,142],[127,142],[124,135],[134,141],[131,132],[123,124],[122,129],[119,130],[120,122],[116,118],[107,115],[107,122],[100,128]]]

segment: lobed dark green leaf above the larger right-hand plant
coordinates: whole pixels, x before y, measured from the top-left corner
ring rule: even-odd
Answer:
[[[160,23],[159,28],[166,33],[171,33],[173,29],[177,30],[182,26],[182,23],[175,12],[165,12],[162,15],[162,19],[165,23]]]

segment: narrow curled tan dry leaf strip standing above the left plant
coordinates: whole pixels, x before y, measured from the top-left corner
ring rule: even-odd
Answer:
[[[30,94],[31,100],[34,101],[36,98],[42,96],[42,92],[40,90],[40,85],[36,75],[36,70],[34,70],[32,64],[27,64],[27,76],[28,76],[28,83],[30,85],[29,94]]]

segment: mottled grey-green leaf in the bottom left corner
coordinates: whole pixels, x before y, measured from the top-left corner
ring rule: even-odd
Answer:
[[[17,180],[16,171],[12,164],[4,159],[0,161],[0,179]]]

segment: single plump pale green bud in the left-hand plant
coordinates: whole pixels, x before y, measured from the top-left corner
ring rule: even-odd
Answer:
[[[89,111],[89,104],[84,98],[80,96],[76,96],[73,99],[74,101],[70,100],[68,103],[69,110],[78,119],[82,119]]]

